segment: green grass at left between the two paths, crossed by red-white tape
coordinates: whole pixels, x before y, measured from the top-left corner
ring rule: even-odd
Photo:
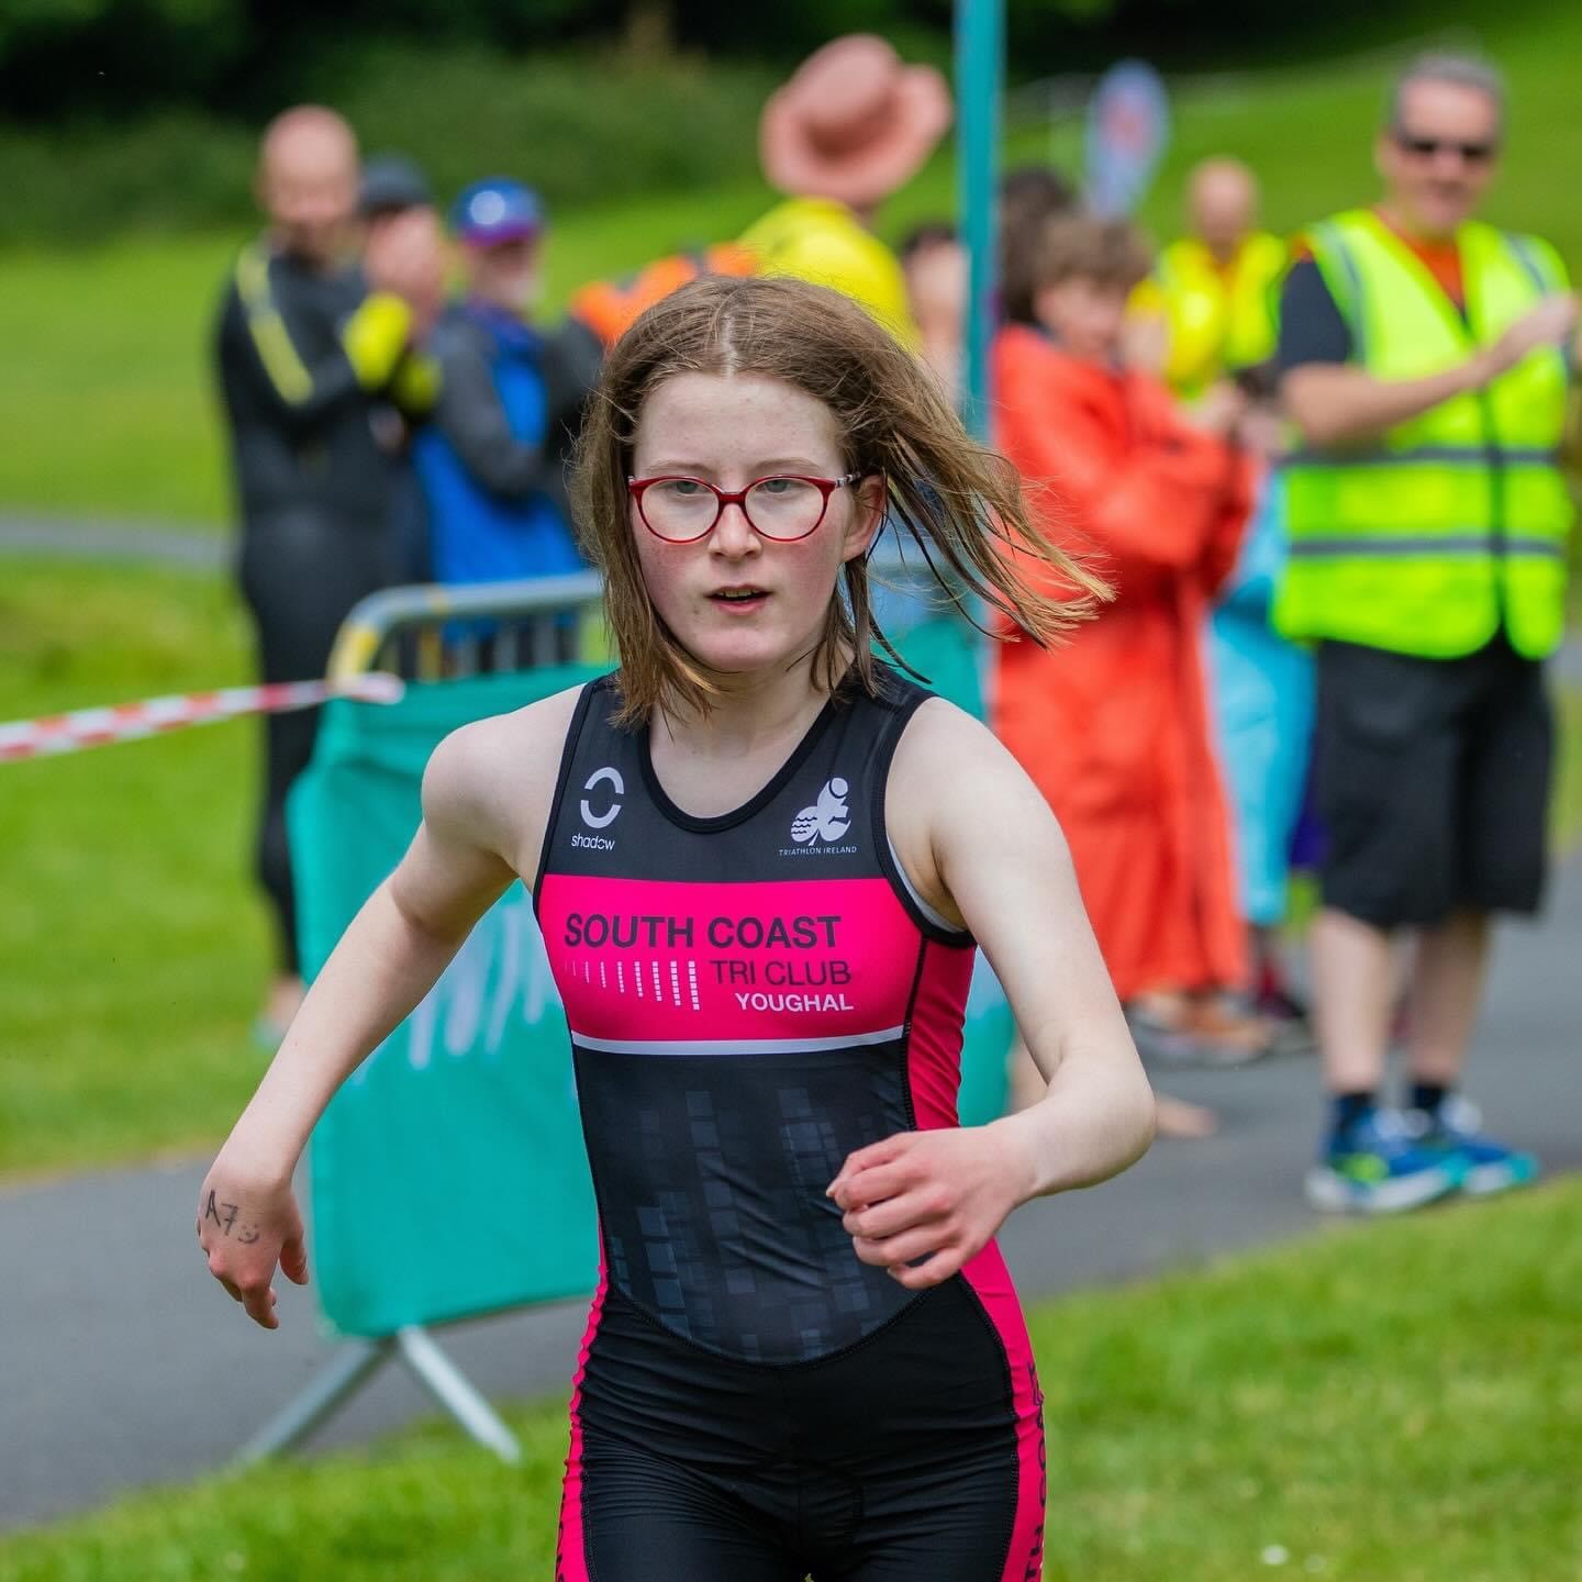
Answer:
[[[6,560],[0,720],[247,679],[218,577]],[[210,1144],[261,1071],[255,726],[0,766],[0,1171]]]

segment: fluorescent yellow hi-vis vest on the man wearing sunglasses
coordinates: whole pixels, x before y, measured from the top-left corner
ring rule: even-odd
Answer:
[[[1353,362],[1380,380],[1454,367],[1565,290],[1544,244],[1485,225],[1457,234],[1465,320],[1373,214],[1338,215],[1311,245],[1351,329]],[[1565,422],[1565,361],[1541,350],[1365,451],[1292,452],[1283,464],[1291,555],[1275,600],[1280,630],[1451,658],[1503,623],[1519,653],[1552,652],[1573,514],[1557,465]]]

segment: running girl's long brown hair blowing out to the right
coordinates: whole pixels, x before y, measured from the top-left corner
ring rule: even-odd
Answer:
[[[620,655],[623,723],[655,707],[707,712],[715,687],[660,620],[642,581],[626,479],[644,402],[677,373],[759,375],[821,400],[845,467],[886,481],[886,516],[908,535],[949,603],[973,598],[1035,642],[1050,644],[1109,589],[1031,524],[1016,468],[973,443],[933,375],[861,307],[804,280],[706,275],[650,307],[611,348],[571,483],[589,555],[604,574],[604,611]],[[869,565],[842,568],[813,653],[826,691],[848,671],[876,688]]]

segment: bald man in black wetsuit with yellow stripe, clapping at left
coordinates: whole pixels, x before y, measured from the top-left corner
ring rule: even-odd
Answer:
[[[266,680],[324,674],[340,622],[402,573],[391,528],[386,403],[421,408],[433,370],[413,353],[438,310],[441,258],[419,226],[370,237],[350,263],[358,146],[332,111],[301,106],[263,139],[269,225],[226,285],[217,326],[240,514],[240,584]],[[277,1038],[301,998],[285,797],[307,764],[316,712],[266,725],[258,872],[275,911],[278,973],[259,1022]]]

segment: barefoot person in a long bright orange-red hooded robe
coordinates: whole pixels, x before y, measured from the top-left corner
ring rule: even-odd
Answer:
[[[1218,993],[1247,962],[1201,644],[1251,467],[1228,438],[1232,394],[1188,422],[1163,383],[1122,364],[1126,296],[1147,267],[1125,221],[1058,218],[1038,324],[1008,324],[995,342],[997,441],[1050,536],[1115,600],[1065,649],[1000,645],[993,723],[1066,832],[1144,1052],[1250,1058],[1267,1031]],[[1175,1104],[1161,1125],[1207,1131],[1213,1117]]]

